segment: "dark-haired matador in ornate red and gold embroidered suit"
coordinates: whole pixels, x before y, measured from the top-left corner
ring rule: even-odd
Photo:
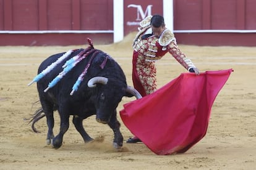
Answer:
[[[160,60],[167,52],[173,55],[186,70],[199,74],[195,65],[177,46],[174,34],[165,28],[164,20],[162,22],[161,20],[163,20],[161,15],[150,15],[143,19],[138,28],[139,33],[134,39],[132,80],[135,89],[142,96],[156,91],[155,61]],[[157,26],[158,23],[154,26],[152,22],[155,21],[160,21],[160,26]],[[154,33],[154,29],[160,33]]]

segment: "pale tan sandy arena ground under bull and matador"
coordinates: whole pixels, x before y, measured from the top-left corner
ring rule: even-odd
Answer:
[[[134,34],[117,44],[97,45],[121,65],[132,85],[132,43]],[[46,119],[32,132],[24,118],[40,107],[36,84],[27,86],[36,76],[40,63],[49,55],[81,46],[1,46],[0,47],[0,169],[255,169],[256,167],[256,48],[185,46],[180,49],[200,71],[233,68],[227,83],[211,110],[207,135],[186,153],[159,156],[143,144],[126,144],[121,151],[112,147],[113,132],[92,116],[83,125],[95,142],[84,144],[70,123],[64,144],[58,150],[46,145]],[[185,72],[167,54],[156,63],[158,87]],[[123,98],[122,105],[133,98]],[[32,107],[33,105],[33,107]],[[54,134],[59,129],[55,114]],[[122,124],[118,114],[118,119]],[[70,119],[71,120],[71,119]],[[124,124],[124,139],[132,136]]]

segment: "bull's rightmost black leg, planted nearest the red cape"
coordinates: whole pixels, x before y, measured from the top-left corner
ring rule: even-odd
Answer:
[[[122,137],[122,134],[120,132],[121,124],[119,123],[119,121],[117,121],[116,111],[115,111],[115,114],[113,116],[111,116],[111,119],[110,119],[108,125],[109,125],[109,127],[111,127],[111,129],[114,132],[113,147],[121,148],[122,142],[124,141],[124,137]]]

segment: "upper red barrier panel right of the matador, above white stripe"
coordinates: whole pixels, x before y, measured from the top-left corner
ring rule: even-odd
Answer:
[[[174,30],[256,30],[254,0],[174,0]]]

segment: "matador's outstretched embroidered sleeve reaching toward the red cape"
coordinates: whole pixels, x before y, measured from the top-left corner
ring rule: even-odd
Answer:
[[[188,59],[183,52],[181,52],[175,41],[171,41],[167,48],[169,53],[173,55],[174,59],[181,63],[184,68],[187,70],[195,68],[194,63],[192,63],[192,61]]]

